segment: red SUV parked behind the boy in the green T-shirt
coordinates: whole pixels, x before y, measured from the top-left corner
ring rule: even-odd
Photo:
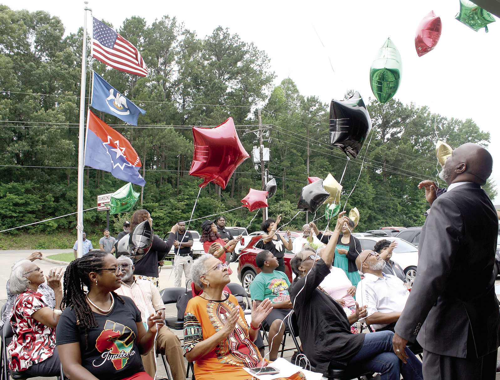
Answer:
[[[278,234],[284,237],[284,231],[278,231]],[[291,232],[291,240],[295,240],[296,237],[300,235],[296,232]],[[238,279],[241,282],[243,288],[249,293],[250,284],[253,279],[260,273],[260,268],[255,266],[255,256],[257,253],[264,250],[264,242],[262,241],[262,235],[254,236],[251,238],[248,245],[241,250],[238,258]],[[294,256],[293,252],[284,249],[284,266],[285,274],[291,283],[291,267],[290,260]]]

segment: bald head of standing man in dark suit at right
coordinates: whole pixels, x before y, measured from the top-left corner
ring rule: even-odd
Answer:
[[[454,149],[443,168],[444,180],[470,181],[483,186],[493,170],[493,158],[482,146],[467,142]]]

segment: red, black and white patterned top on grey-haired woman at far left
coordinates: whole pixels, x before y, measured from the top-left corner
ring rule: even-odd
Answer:
[[[12,371],[27,370],[33,364],[50,358],[54,351],[55,330],[31,317],[47,306],[41,297],[40,293],[28,289],[15,300],[10,317],[14,336],[7,347],[10,353],[8,366]]]

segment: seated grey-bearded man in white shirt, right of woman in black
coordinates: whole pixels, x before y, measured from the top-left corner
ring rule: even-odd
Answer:
[[[362,251],[356,265],[364,279],[357,284],[356,301],[367,305],[364,321],[373,330],[394,331],[394,325],[404,309],[409,292],[396,276],[382,272],[385,261],[377,252]]]

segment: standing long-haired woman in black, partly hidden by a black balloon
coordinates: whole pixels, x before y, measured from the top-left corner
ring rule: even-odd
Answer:
[[[130,233],[133,231],[134,227],[143,222],[144,220],[149,221],[149,224],[153,225],[153,220],[151,215],[147,210],[137,210],[133,213],[130,218]],[[175,232],[179,229],[179,225],[175,223],[170,229],[170,234],[168,239],[163,241],[158,235],[153,235],[153,243],[149,251],[140,260],[136,261],[133,265],[135,266],[134,276],[142,280],[151,281],[156,287],[158,284],[158,262],[165,258],[165,255],[170,251],[173,244],[173,239],[175,238]]]

